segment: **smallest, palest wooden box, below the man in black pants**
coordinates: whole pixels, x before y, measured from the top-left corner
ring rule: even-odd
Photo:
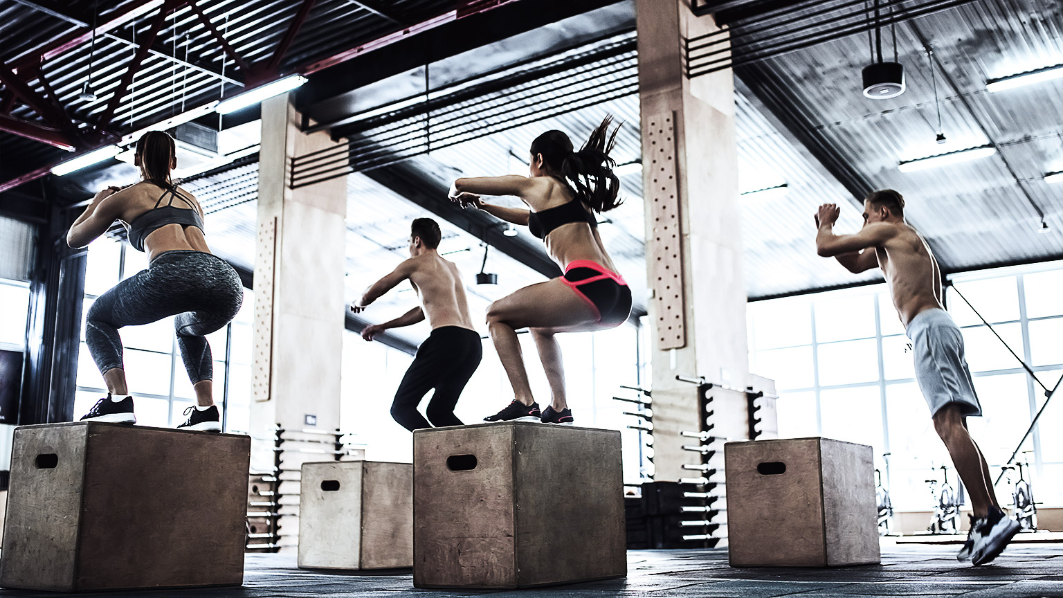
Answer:
[[[414,566],[414,466],[304,463],[299,494],[299,566]]]

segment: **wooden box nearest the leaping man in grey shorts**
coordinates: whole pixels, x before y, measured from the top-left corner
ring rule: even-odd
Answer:
[[[732,567],[879,563],[872,448],[829,438],[724,445]]]

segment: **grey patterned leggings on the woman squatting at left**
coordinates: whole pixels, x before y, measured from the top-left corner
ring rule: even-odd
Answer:
[[[100,295],[88,310],[85,344],[100,373],[122,367],[118,329],[173,318],[181,359],[192,384],[210,380],[214,367],[205,335],[240,311],[243,285],[225,261],[202,251],[161,253],[141,270]]]

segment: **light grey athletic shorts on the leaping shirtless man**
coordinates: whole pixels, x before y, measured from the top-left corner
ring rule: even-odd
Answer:
[[[905,331],[912,339],[915,380],[930,405],[930,415],[956,403],[964,415],[981,415],[971,371],[963,358],[963,335],[945,310],[927,310],[912,318]]]

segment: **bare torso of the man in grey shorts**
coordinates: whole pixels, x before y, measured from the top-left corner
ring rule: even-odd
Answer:
[[[919,313],[944,309],[941,302],[941,269],[926,240],[915,229],[897,222],[897,234],[875,249],[878,265],[890,285],[893,306],[907,328]]]

